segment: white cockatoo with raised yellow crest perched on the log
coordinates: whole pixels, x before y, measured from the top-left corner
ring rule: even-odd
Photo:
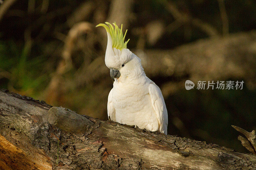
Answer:
[[[126,48],[122,27],[106,22],[108,35],[105,64],[114,80],[108,95],[108,119],[140,129],[167,134],[168,115],[160,88],[150,80],[140,58]],[[96,26],[96,27],[97,27]]]

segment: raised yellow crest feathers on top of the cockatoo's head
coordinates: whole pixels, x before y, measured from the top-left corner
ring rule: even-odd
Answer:
[[[124,42],[124,38],[127,30],[123,35],[123,32],[122,32],[123,24],[121,25],[121,29],[119,29],[118,26],[116,25],[116,22],[113,23],[115,28],[110,23],[108,22],[105,22],[105,23],[108,24],[109,27],[106,24],[98,24],[97,26],[103,26],[106,29],[106,31],[110,34],[112,39],[112,47],[113,48],[115,47],[116,49],[120,49],[120,50],[123,48],[127,48],[126,45],[130,39]]]

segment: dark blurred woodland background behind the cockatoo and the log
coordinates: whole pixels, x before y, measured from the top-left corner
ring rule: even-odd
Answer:
[[[0,86],[107,119],[106,21],[161,88],[169,134],[245,152],[231,127],[256,129],[253,0],[0,1]],[[243,90],[185,90],[186,80],[244,81]]]

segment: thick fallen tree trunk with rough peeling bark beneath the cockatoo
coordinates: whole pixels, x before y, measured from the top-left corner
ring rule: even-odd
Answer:
[[[256,168],[256,156],[216,144],[79,116],[1,90],[0,169]]]

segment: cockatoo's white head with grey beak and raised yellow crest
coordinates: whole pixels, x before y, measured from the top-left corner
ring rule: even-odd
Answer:
[[[141,67],[140,58],[126,48],[126,45],[130,39],[124,42],[127,30],[123,35],[123,25],[121,25],[121,29],[119,29],[116,22],[113,23],[115,28],[110,23],[105,23],[107,25],[97,25],[103,26],[108,35],[105,64],[110,69],[111,78],[118,82],[118,79],[124,80],[129,76],[134,76],[134,74],[138,72],[138,66]],[[143,68],[141,67],[141,69]]]

